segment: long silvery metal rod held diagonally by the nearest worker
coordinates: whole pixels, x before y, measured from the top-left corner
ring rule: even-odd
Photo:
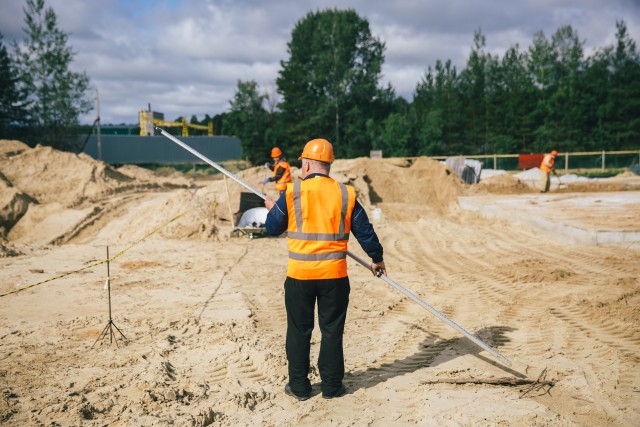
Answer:
[[[222,166],[220,166],[219,164],[217,164],[213,160],[210,160],[206,156],[200,154],[198,151],[196,151],[193,148],[189,147],[187,144],[185,144],[184,142],[180,141],[178,138],[174,137],[173,135],[171,135],[170,133],[168,133],[164,129],[161,129],[159,127],[156,127],[156,129],[163,136],[169,138],[171,141],[175,142],[180,147],[184,148],[185,150],[187,150],[188,152],[190,152],[194,156],[198,157],[202,161],[204,161],[204,162],[208,163],[209,165],[213,166],[218,171],[222,172],[223,174],[225,174],[229,178],[233,179],[238,184],[240,184],[243,187],[245,187],[247,190],[250,190],[252,193],[254,193],[257,196],[261,197],[263,200],[265,200],[267,198],[267,196],[265,194],[259,192],[255,188],[251,187],[251,185],[249,185],[247,182],[245,182],[242,179],[238,178],[237,176],[235,176],[234,174],[232,174],[231,172],[229,172],[228,170],[226,170],[225,168],[223,168]],[[351,258],[353,258],[359,264],[362,264],[368,270],[371,270],[371,265],[368,262],[366,262],[365,260],[363,260],[362,258],[360,258],[359,256],[351,253],[350,251],[347,251],[347,255],[349,255]],[[473,342],[474,344],[478,345],[482,349],[484,349],[484,350],[488,351],[489,353],[491,353],[493,356],[495,356],[498,360],[503,362],[505,365],[511,366],[511,362],[509,361],[509,359],[507,359],[506,357],[504,357],[503,355],[501,355],[500,353],[495,351],[493,348],[491,348],[491,346],[489,346],[487,343],[485,343],[484,341],[482,341],[481,339],[479,339],[478,337],[476,337],[472,333],[467,332],[462,326],[458,325],[456,322],[454,322],[453,320],[447,318],[447,316],[445,316],[444,314],[442,314],[441,312],[439,312],[435,308],[431,307],[426,302],[422,301],[420,298],[418,298],[418,296],[416,294],[414,294],[410,290],[404,288],[403,286],[399,285],[396,281],[392,280],[386,274],[383,274],[380,271],[377,272],[376,276],[381,278],[382,280],[387,282],[387,284],[389,284],[390,286],[396,288],[397,290],[399,290],[400,292],[402,292],[403,294],[405,294],[406,296],[408,296],[409,298],[411,298],[412,300],[414,300],[418,304],[420,304],[422,307],[426,308],[431,314],[436,316],[438,319],[442,320],[447,325],[451,326],[456,331],[460,332],[465,337],[469,338],[471,340],[471,342]]]

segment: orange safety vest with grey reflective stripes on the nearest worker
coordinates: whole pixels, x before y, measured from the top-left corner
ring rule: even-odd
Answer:
[[[347,277],[347,244],[356,192],[317,176],[287,186],[289,263],[299,280]]]

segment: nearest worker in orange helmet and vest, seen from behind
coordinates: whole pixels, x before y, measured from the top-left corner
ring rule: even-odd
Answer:
[[[287,310],[286,352],[289,381],[285,393],[298,400],[311,397],[309,351],[318,304],[322,333],[318,370],[322,397],[347,392],[342,336],[349,305],[347,244],[353,233],[372,260],[371,271],[386,274],[383,249],[353,187],[329,177],[333,146],[326,139],[309,141],[302,160],[302,181],[288,184],[277,201],[265,200],[269,209],[266,232],[287,232],[289,260],[284,282]]]

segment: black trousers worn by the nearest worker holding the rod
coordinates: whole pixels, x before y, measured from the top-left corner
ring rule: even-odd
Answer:
[[[318,302],[318,323],[322,340],[318,370],[325,395],[334,395],[344,378],[342,335],[349,306],[349,278],[298,280],[287,277],[284,301],[287,309],[287,360],[289,386],[300,396],[311,392],[309,352],[314,326],[314,310]]]

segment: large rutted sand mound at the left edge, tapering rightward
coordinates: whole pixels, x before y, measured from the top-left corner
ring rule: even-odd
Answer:
[[[127,194],[190,185],[183,176],[157,177],[133,166],[117,170],[85,154],[0,140],[0,238],[66,242]]]

